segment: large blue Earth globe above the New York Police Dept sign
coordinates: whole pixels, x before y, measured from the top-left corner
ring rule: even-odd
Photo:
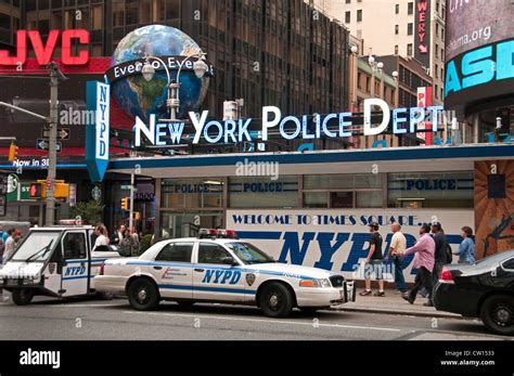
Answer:
[[[189,56],[200,51],[200,46],[187,34],[170,26],[151,25],[129,33],[118,43],[111,66],[150,56]],[[195,57],[191,60],[194,61]],[[152,60],[151,60],[152,61]],[[171,79],[177,79],[178,69],[169,69]],[[209,76],[197,78],[191,70],[180,73],[180,108],[178,118],[188,112],[197,111],[202,105],[209,85]],[[152,80],[146,81],[137,74],[113,82],[112,93],[116,102],[131,117],[139,116],[149,121],[150,114],[157,119],[169,118],[167,100],[168,78],[166,70],[157,69]]]

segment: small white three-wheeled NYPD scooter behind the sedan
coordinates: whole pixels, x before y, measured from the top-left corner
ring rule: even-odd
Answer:
[[[93,295],[93,277],[107,258],[120,257],[115,246],[93,250],[90,225],[30,229],[0,270],[0,287],[12,293],[15,304],[30,303],[36,295],[67,298]]]

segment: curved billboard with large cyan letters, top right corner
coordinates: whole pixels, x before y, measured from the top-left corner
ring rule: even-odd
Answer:
[[[461,109],[512,93],[514,3],[449,0],[446,27],[445,104]]]

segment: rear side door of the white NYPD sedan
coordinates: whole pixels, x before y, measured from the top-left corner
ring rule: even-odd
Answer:
[[[193,274],[191,257],[193,242],[172,242],[163,247],[149,267],[158,282],[163,298],[193,298]]]

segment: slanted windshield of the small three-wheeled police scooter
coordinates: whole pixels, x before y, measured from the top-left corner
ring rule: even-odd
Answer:
[[[59,231],[34,231],[30,232],[27,238],[22,243],[20,248],[14,254],[13,261],[44,261],[50,255],[52,255],[50,249],[41,251],[51,244],[55,246],[57,244],[57,237],[61,235]],[[52,243],[50,243],[52,242]],[[39,255],[36,255],[39,254]]]

